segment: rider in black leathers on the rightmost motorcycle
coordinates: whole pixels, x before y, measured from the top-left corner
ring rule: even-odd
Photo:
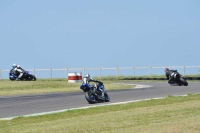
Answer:
[[[168,68],[165,68],[165,75],[167,77],[168,83],[172,84],[173,81],[177,82],[179,85],[181,85],[179,79],[180,74],[177,72],[177,70],[169,70]]]

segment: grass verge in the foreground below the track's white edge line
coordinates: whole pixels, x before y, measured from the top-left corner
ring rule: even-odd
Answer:
[[[200,94],[0,121],[1,133],[199,133]]]

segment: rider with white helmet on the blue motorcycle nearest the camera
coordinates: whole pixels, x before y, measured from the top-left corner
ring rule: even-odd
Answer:
[[[94,92],[95,92],[95,90],[100,90],[101,92],[102,92],[102,95],[103,95],[103,91],[104,90],[101,90],[101,89],[98,89],[99,88],[99,86],[100,85],[102,85],[103,83],[101,82],[101,81],[98,81],[98,80],[93,80],[91,77],[90,77],[90,74],[89,73],[87,73],[87,74],[85,74],[85,76],[83,77],[83,82],[82,82],[82,84],[89,84],[90,82],[97,82],[97,83],[99,83],[98,85],[94,85],[94,86],[91,86],[90,85],[90,87],[92,88],[92,87],[94,87]]]

